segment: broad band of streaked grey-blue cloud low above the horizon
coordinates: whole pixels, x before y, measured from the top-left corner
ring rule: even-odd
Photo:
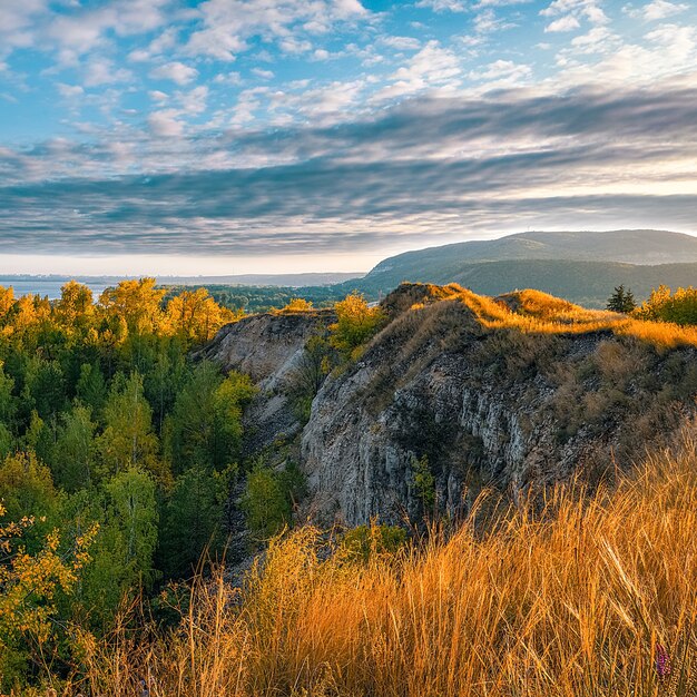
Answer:
[[[514,66],[491,63],[491,76]],[[694,228],[697,81],[418,98],[338,126],[187,138],[194,91],[177,94],[180,109],[150,115],[154,141],[0,149],[3,180],[14,181],[0,187],[0,242],[17,252],[263,255],[529,225]],[[95,177],[94,163],[117,159],[120,176]],[[43,180],[47,170],[63,175]]]

